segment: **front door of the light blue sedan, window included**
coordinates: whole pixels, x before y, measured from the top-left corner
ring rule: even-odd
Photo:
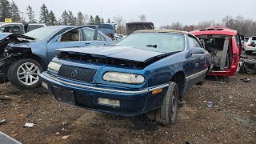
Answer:
[[[88,41],[81,28],[72,29],[58,35],[47,43],[48,50],[48,62],[54,58],[58,52],[57,49],[69,48],[69,47],[84,47],[94,46],[97,43],[94,41]]]

